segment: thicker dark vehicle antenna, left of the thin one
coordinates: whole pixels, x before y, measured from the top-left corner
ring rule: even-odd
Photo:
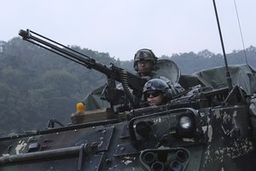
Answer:
[[[219,33],[220,42],[221,42],[223,55],[224,55],[224,62],[225,62],[225,67],[226,67],[226,76],[227,76],[227,81],[228,81],[228,88],[229,88],[229,90],[231,90],[233,88],[232,87],[232,80],[231,80],[231,77],[230,77],[229,66],[228,66],[227,57],[226,57],[226,53],[225,53],[225,49],[224,49],[224,41],[223,41],[223,38],[222,38],[220,25],[219,25],[219,21],[218,21],[218,12],[217,12],[217,8],[216,8],[215,0],[212,0],[212,2],[213,2],[213,6],[214,6],[214,11],[215,11],[215,15],[216,15],[217,24],[218,24],[218,33]]]

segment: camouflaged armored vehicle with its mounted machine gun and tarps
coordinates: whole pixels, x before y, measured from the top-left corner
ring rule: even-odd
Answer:
[[[158,71],[166,77],[172,73],[170,79],[186,91],[166,105],[140,108],[130,89],[139,94],[143,78],[104,66],[36,32],[20,30],[20,36],[101,71],[108,84],[78,103],[72,124],[53,119],[43,130],[0,138],[1,171],[256,170],[252,67],[219,66],[181,75],[172,61],[160,60]],[[116,81],[123,89],[116,88]]]

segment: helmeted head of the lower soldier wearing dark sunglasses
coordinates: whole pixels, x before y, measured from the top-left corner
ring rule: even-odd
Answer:
[[[150,106],[165,105],[172,99],[172,94],[168,84],[159,78],[149,80],[143,87],[143,101]]]

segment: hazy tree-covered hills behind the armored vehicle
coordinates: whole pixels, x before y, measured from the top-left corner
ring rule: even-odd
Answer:
[[[108,53],[79,46],[70,48],[106,66],[113,64],[134,72],[133,56],[131,60],[121,61]],[[189,52],[158,57],[176,62],[182,74],[224,66],[223,55],[213,54],[207,49],[198,54]],[[248,63],[256,68],[256,48],[250,46],[245,51],[234,50],[227,54],[227,59],[229,65]],[[0,41],[0,135],[44,129],[51,118],[70,123],[76,103],[106,81],[102,73],[61,58],[20,37],[8,42]]]

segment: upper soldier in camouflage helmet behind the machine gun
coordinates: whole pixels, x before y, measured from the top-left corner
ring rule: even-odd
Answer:
[[[171,83],[168,78],[157,75],[155,72],[157,70],[157,59],[158,58],[155,56],[153,51],[148,48],[138,50],[134,56],[133,63],[133,67],[134,70],[137,71],[137,75],[147,80],[160,78],[169,85],[169,87],[172,89],[173,95],[182,93],[184,88],[179,83]]]

